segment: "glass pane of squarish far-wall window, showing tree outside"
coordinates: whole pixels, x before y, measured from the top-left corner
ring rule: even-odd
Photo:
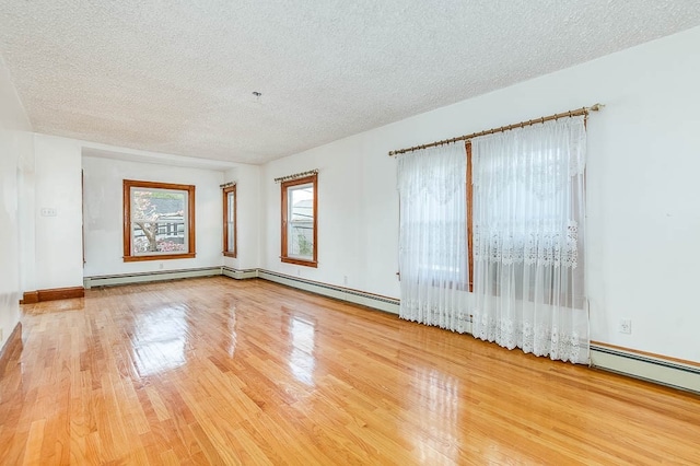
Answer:
[[[187,253],[186,207],[186,193],[132,187],[133,254]]]

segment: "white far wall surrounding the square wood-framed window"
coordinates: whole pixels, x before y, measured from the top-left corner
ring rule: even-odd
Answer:
[[[215,267],[223,264],[221,254],[223,205],[219,187],[224,179],[222,171],[97,156],[83,156],[82,166],[85,191],[85,277],[182,270]],[[121,196],[124,179],[195,185],[197,257],[137,263],[122,260]]]

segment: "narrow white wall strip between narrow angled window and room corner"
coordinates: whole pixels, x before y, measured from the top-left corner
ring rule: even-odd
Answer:
[[[224,265],[245,270],[260,264],[260,167],[240,165],[228,170],[224,180],[236,183],[236,258],[224,257]],[[223,245],[222,245],[223,246]]]

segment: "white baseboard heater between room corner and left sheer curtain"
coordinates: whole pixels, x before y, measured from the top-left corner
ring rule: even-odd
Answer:
[[[350,288],[305,280],[303,278],[264,269],[258,269],[258,277],[276,283],[298,288],[300,290],[311,291],[312,293],[324,296],[335,298],[336,300],[348,301],[350,303],[360,304],[378,311],[398,314],[399,301],[394,298],[381,296],[378,294],[366,293],[364,291],[352,290]]]

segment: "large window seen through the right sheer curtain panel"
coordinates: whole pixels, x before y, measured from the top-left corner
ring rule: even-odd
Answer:
[[[555,120],[467,149],[476,291],[582,308],[571,300],[583,299],[584,123]]]

